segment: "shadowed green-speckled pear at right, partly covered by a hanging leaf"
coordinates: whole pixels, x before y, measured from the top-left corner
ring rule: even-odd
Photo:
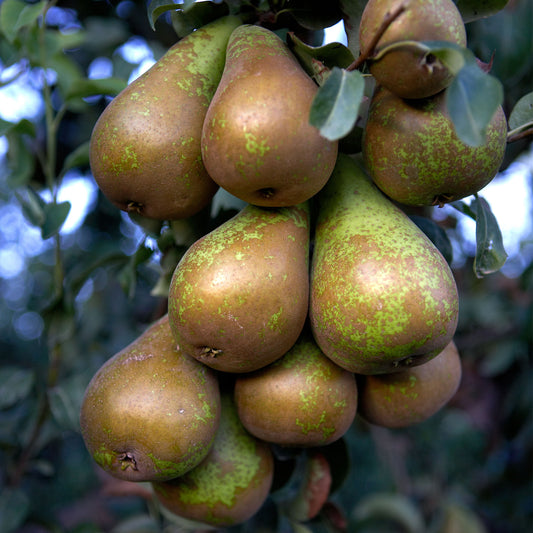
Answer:
[[[487,185],[503,161],[507,120],[498,107],[481,146],[466,145],[455,133],[442,92],[405,100],[378,88],[363,134],[365,165],[376,185],[405,205],[439,205],[474,194]]]

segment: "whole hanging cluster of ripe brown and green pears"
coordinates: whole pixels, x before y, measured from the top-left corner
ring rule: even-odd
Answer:
[[[362,49],[364,28],[372,33],[383,17],[378,8],[395,3],[368,2]],[[423,25],[445,4],[404,3],[406,14],[424,13]],[[438,38],[464,42],[461,24],[443,23],[439,9],[433,20],[455,29]],[[411,18],[408,38],[425,39]],[[399,24],[401,34],[401,23],[387,31]],[[414,64],[430,75],[410,77],[429,78],[431,92],[442,92],[449,76],[404,52],[395,75]],[[422,422],[459,386],[451,269],[397,198],[380,190],[402,168],[402,154],[417,167],[423,143],[411,118],[404,131],[404,108],[421,115],[425,135],[445,135],[424,129],[429,113],[439,128],[452,126],[438,95],[419,87],[408,100],[409,80],[394,81],[403,88],[396,95],[383,81],[390,67],[374,67],[362,155],[341,153],[309,124],[317,86],[284,42],[234,16],[181,39],[95,125],[92,171],[120,209],[184,219],[218,188],[245,202],[188,248],[172,275],[168,312],[104,363],[82,404],[82,435],[98,465],[149,483],[175,516],[242,523],[272,490],[276,448],[327,446],[357,416],[389,428]],[[391,148],[393,135],[403,148]],[[448,147],[428,159],[482,160],[489,142],[466,154],[454,139],[463,152]],[[411,203],[467,189],[437,181],[420,175],[393,188],[414,194]],[[414,182],[424,193],[411,192]]]

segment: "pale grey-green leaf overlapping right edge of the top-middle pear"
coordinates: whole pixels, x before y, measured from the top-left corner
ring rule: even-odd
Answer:
[[[334,67],[313,100],[310,123],[330,141],[344,137],[357,120],[364,88],[364,78],[358,70]]]

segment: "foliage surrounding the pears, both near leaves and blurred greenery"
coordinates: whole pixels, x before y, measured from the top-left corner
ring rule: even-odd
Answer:
[[[91,181],[92,127],[137,66],[124,59],[120,47],[141,37],[157,58],[195,27],[240,13],[284,36],[321,86],[310,119],[325,136],[347,139],[359,125],[368,94],[365,58],[359,57],[355,37],[362,1],[145,4],[4,0],[0,5],[1,84],[7,89],[28,80],[41,105],[33,115],[0,119],[7,146],[0,161],[0,261],[5,262],[0,271],[0,530],[6,533],[185,527],[156,508],[147,488],[109,479],[95,468],[79,435],[78,412],[99,366],[165,311],[170,275],[187,247],[240,204],[220,193],[199,216],[157,223],[118,213],[95,194],[81,224],[65,230],[74,206],[61,193],[72,175]],[[519,0],[505,9],[505,2],[457,4],[469,21],[469,49],[422,46],[454,65],[449,105],[459,110],[454,121],[466,142],[479,142],[490,110],[503,103],[509,140],[516,141],[508,165],[528,149],[526,135],[533,127],[528,93],[533,50],[528,26],[519,26],[531,20],[531,4]],[[487,11],[480,12],[479,5]],[[324,46],[324,28],[341,19],[347,45]],[[503,31],[487,30],[502,20],[517,21],[516,40],[510,49],[491,43],[495,57],[480,58],[492,63],[487,73],[474,52],[485,51],[488,33],[503,39]],[[89,75],[102,58],[111,74]],[[513,75],[505,67],[511,60]],[[488,96],[480,98],[480,92]],[[533,265],[517,278],[498,272],[506,258],[505,235],[486,200],[476,195],[454,207],[457,217],[476,221],[477,236],[477,249],[454,271],[462,302],[456,343],[465,364],[454,400],[408,430],[358,421],[344,439],[322,450],[332,466],[334,491],[310,521],[296,521],[286,505],[301,496],[309,454],[278,450],[267,505],[235,531],[444,532],[454,520],[466,533],[527,530]],[[424,231],[449,251],[450,240],[462,238],[454,230],[457,218],[450,214],[437,223],[432,210],[411,214],[423,215]],[[13,260],[21,264],[9,270]]]

